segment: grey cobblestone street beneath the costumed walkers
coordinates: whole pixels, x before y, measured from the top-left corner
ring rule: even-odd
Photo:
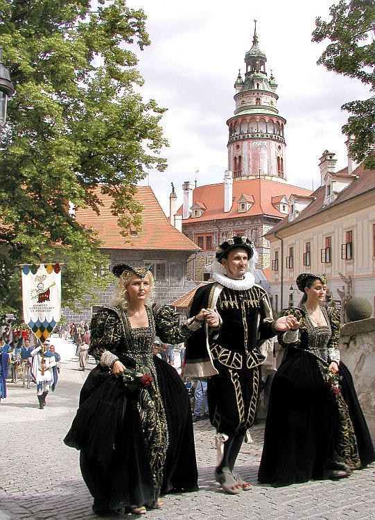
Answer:
[[[62,363],[58,386],[54,393],[50,392],[46,408],[38,408],[35,385],[27,390],[21,382],[8,383],[8,397],[1,401],[1,520],[98,518],[91,510],[91,496],[80,476],[79,453],[62,442],[76,413],[88,371],[78,370],[71,342],[52,338],[51,343],[62,356]],[[90,358],[89,369],[93,367]],[[253,442],[243,444],[238,457],[238,469],[254,487],[230,496],[221,492],[213,480],[213,428],[207,420],[196,422],[199,492],[166,496],[163,508],[148,512],[146,518],[375,519],[374,467],[335,482],[315,481],[284,488],[258,485],[263,426],[261,423],[252,429]]]

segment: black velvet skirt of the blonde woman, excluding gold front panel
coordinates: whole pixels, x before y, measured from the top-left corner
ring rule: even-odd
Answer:
[[[162,494],[198,489],[191,406],[176,370],[154,356],[168,425]],[[130,392],[98,365],[82,386],[80,407],[64,438],[80,450],[80,468],[94,510],[116,510],[155,501],[152,473],[137,408]]]

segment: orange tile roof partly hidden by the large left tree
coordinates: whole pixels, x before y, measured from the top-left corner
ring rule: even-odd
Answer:
[[[136,235],[121,235],[121,227],[110,210],[112,197],[101,192],[101,187],[94,193],[103,202],[100,207],[100,215],[92,209],[76,208],[76,220],[87,227],[94,227],[98,232],[98,238],[102,241],[103,248],[111,249],[141,249],[141,250],[173,250],[173,251],[197,251],[198,246],[178,231],[164,214],[155,193],[148,186],[137,187],[134,200],[143,205],[141,212],[141,232]]]

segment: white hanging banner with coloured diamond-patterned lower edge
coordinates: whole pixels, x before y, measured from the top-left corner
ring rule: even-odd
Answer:
[[[59,263],[24,265],[22,268],[22,304],[24,322],[44,343],[61,312],[61,267]]]

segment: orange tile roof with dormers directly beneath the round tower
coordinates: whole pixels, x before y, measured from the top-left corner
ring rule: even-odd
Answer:
[[[238,212],[238,199],[246,193],[247,196],[254,197],[254,204],[247,211]],[[292,193],[298,196],[310,196],[311,190],[291,186],[281,182],[274,182],[265,179],[248,179],[236,180],[233,183],[233,205],[232,209],[227,213],[224,212],[224,183],[208,184],[207,186],[200,186],[193,190],[193,204],[196,201],[204,203],[207,207],[202,216],[198,218],[184,219],[183,223],[202,222],[205,220],[213,220],[216,218],[234,218],[237,216],[254,216],[254,215],[269,215],[279,218],[284,218],[285,214],[272,204],[272,198],[279,196],[286,196],[289,198]],[[182,214],[182,207],[177,212]]]

